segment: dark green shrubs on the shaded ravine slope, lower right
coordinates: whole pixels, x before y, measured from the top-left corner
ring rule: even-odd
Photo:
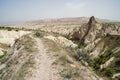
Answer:
[[[109,79],[112,78],[112,76],[115,73],[120,72],[119,60],[120,60],[120,51],[115,53],[115,48],[120,47],[120,36],[119,35],[107,35],[103,37],[101,40],[105,43],[106,46],[109,48],[104,52],[104,54],[100,55],[98,58],[95,58],[94,60],[91,60],[89,62],[89,65],[93,67],[97,71],[99,75],[107,76]],[[115,57],[115,61],[111,63],[110,66],[104,69],[100,69],[100,65],[104,64],[106,61],[108,61],[111,57]]]

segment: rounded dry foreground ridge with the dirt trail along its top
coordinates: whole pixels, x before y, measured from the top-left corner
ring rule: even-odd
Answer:
[[[33,32],[16,39],[6,55],[0,59],[0,79],[100,79],[94,72],[77,62],[74,57],[71,56],[69,50],[65,49],[65,46],[69,47],[70,45],[61,45],[61,41],[56,42],[47,37],[50,35],[54,38],[58,37],[62,43],[66,43],[67,39],[60,35],[53,35],[41,31]],[[64,38],[65,41],[62,38]],[[71,41],[68,43],[75,45]],[[86,75],[89,76],[86,77]]]

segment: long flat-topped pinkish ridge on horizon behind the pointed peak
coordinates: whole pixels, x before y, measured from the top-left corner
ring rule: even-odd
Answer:
[[[103,22],[115,22],[113,20],[108,20],[108,19],[99,19],[96,18],[96,20],[100,23]],[[89,21],[89,17],[73,17],[73,18],[58,18],[58,19],[42,19],[42,20],[36,20],[36,21],[30,21],[26,22],[26,24],[81,24],[81,23],[86,23]]]

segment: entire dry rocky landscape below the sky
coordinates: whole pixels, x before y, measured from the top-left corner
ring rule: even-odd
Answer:
[[[79,20],[1,27],[0,80],[119,80],[120,23]]]

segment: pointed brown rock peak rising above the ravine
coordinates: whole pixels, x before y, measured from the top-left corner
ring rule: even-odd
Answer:
[[[82,43],[93,42],[100,35],[101,25],[92,16],[88,23],[83,24],[78,31],[72,33],[72,39],[79,39]]]

